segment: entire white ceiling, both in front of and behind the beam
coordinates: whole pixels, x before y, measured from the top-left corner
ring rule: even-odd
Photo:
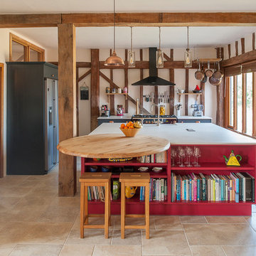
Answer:
[[[0,14],[112,12],[113,0],[0,0]],[[255,0],[116,0],[117,12],[256,11]],[[129,48],[130,28],[117,27],[116,47]],[[57,28],[14,28],[44,48],[58,47]],[[112,48],[113,28],[76,28],[78,48]],[[256,31],[256,27],[192,27],[190,47],[224,46]],[[134,28],[134,48],[158,46],[156,27]],[[161,47],[186,47],[185,27],[161,28]]]

